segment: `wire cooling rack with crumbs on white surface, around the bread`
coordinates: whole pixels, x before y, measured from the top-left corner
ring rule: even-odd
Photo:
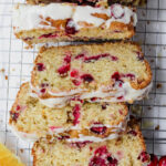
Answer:
[[[37,49],[25,50],[13,35],[11,10],[18,2],[22,0],[0,0],[0,142],[31,166],[31,145],[15,137],[8,127],[9,110],[20,85],[30,80],[37,52]],[[148,0],[137,13],[134,40],[151,63],[154,86],[147,100],[129,110],[141,117],[147,152],[162,156],[166,155],[166,0]]]

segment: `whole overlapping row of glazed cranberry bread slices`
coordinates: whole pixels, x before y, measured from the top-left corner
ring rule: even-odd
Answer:
[[[29,45],[73,41],[39,49],[10,111],[12,131],[34,142],[33,166],[148,165],[127,105],[152,89],[149,63],[128,41],[144,0],[27,2],[13,11],[17,38]]]

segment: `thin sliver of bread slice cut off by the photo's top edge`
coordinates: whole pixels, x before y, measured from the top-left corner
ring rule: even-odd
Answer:
[[[146,0],[27,0],[30,4],[39,4],[39,3],[52,3],[52,2],[69,2],[69,3],[77,3],[80,6],[108,6],[112,3],[122,3],[122,4],[132,4],[132,6],[144,6]]]

